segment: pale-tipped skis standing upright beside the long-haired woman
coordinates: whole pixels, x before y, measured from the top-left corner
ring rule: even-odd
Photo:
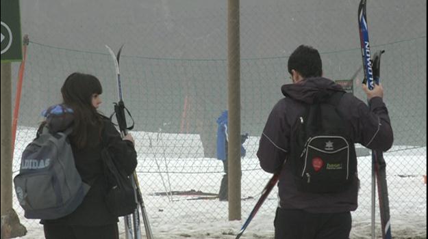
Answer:
[[[121,72],[119,69],[119,60],[121,58],[121,51],[122,47],[119,49],[117,55],[114,55],[114,52],[112,49],[105,45],[106,48],[108,48],[108,51],[112,58],[114,59],[114,66],[116,70],[117,75],[117,89],[118,89],[118,102],[114,103],[114,115],[116,115],[116,121],[119,127],[119,130],[121,131],[122,136],[127,135],[127,131],[134,128],[134,119],[132,119],[131,114],[125,107],[125,103],[123,102],[123,92],[122,92],[122,82],[121,82]],[[127,120],[125,117],[125,111],[127,111],[129,117],[132,119],[132,125],[127,126]],[[112,115],[113,116],[113,115]],[[134,226],[134,231],[131,228],[131,216],[127,215],[124,217],[125,221],[125,238],[131,239],[141,239],[141,225],[140,225],[140,210],[139,207],[142,210],[142,219],[144,223],[144,229],[146,231],[146,236],[148,239],[153,239],[153,234],[151,232],[151,227],[149,223],[149,218],[147,216],[147,212],[144,206],[144,201],[142,200],[142,195],[140,191],[140,185],[138,184],[138,178],[136,175],[136,172],[134,171],[134,174],[130,178],[132,184],[134,185],[135,193],[136,193],[136,201],[137,201],[137,207],[134,213],[132,214],[132,225]],[[133,235],[134,234],[134,235]]]

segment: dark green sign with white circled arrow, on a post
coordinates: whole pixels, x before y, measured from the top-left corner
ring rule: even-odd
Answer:
[[[22,61],[19,0],[1,0],[1,62]]]

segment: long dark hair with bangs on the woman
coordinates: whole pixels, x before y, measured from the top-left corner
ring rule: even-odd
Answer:
[[[67,77],[61,87],[64,104],[74,111],[72,143],[78,148],[96,145],[97,141],[88,140],[88,132],[95,131],[101,136],[102,115],[92,105],[92,95],[102,94],[103,87],[97,77],[90,74],[75,72]],[[92,130],[90,130],[92,128]]]

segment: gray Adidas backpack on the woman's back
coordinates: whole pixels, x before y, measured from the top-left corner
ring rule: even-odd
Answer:
[[[88,193],[90,186],[81,180],[67,139],[71,131],[51,134],[45,126],[25,147],[14,186],[27,219],[59,219],[73,212]]]

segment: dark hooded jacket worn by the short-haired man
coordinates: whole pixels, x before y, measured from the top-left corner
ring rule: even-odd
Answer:
[[[296,84],[283,85],[283,98],[275,104],[264,127],[257,157],[264,171],[275,173],[284,165],[294,140],[292,125],[323,94],[343,91],[340,85],[324,78],[305,79]],[[351,125],[355,143],[386,151],[392,146],[393,135],[388,110],[382,98],[372,98],[369,107],[352,94],[344,94],[338,104],[338,112]],[[355,178],[357,175],[355,173]],[[282,167],[279,177],[279,205],[281,208],[302,209],[313,213],[348,212],[357,209],[359,180],[341,193],[315,194],[297,191],[288,163]]]

